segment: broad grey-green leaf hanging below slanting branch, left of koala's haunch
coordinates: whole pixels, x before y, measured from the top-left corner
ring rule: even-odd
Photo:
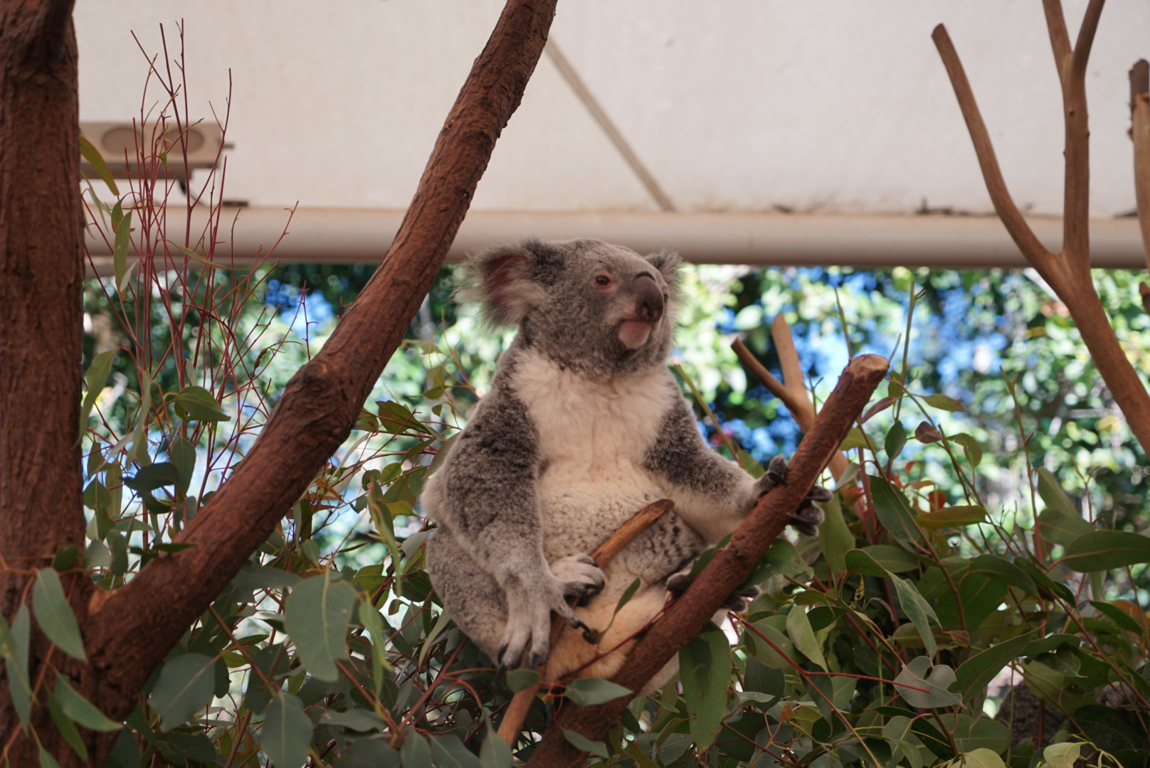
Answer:
[[[288,598],[284,629],[300,661],[321,682],[339,679],[336,661],[347,658],[344,640],[355,601],[351,584],[332,582],[327,574],[300,582]]]

